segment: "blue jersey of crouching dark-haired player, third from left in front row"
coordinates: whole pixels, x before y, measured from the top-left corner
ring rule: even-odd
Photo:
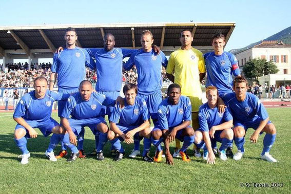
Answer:
[[[139,126],[149,119],[146,102],[141,97],[136,97],[133,105],[129,105],[124,98],[124,107],[120,109],[115,105],[109,121],[123,126]]]

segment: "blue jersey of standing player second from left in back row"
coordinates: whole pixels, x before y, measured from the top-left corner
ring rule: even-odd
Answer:
[[[113,48],[86,49],[95,58],[94,69],[97,72],[96,91],[120,91],[122,86],[122,59],[129,57],[137,50]]]

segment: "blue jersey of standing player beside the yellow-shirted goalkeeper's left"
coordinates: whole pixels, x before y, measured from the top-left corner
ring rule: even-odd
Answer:
[[[162,88],[162,66],[167,67],[168,60],[161,51],[160,54],[153,50],[144,52],[139,50],[130,56],[123,64],[125,70],[130,70],[133,65],[138,71],[138,92],[140,94],[152,94]]]

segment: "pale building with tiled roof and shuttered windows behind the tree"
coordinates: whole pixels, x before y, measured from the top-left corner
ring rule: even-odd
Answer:
[[[242,72],[244,64],[254,58],[273,61],[279,69],[277,74],[269,74],[259,78],[260,84],[277,85],[291,84],[291,45],[285,45],[282,41],[263,40],[259,45],[245,51],[236,53],[239,67]]]

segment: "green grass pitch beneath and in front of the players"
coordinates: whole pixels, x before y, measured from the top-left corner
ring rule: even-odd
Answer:
[[[291,180],[291,109],[273,108],[267,111],[277,128],[277,139],[270,154],[278,163],[259,159],[264,135],[259,137],[258,143],[251,144],[249,137],[253,130],[249,129],[246,152],[240,161],[228,159],[224,162],[217,158],[215,165],[209,165],[188,150],[191,162],[174,159],[174,166],[165,164],[165,159],[162,163],[153,164],[144,162],[141,157],[129,159],[133,145],[125,144],[124,159],[114,162],[109,155],[109,143],[105,146],[105,160],[102,162],[89,157],[72,163],[66,162],[66,159],[51,162],[44,156],[49,138],[44,138],[38,130],[39,136],[28,140],[29,163],[21,165],[21,159],[17,158],[21,152],[13,139],[15,122],[12,113],[0,113],[0,193],[288,193]],[[56,113],[53,117],[59,120]],[[89,153],[93,148],[94,137],[86,128],[85,152]],[[60,146],[57,146],[55,153],[59,149]],[[173,149],[174,143],[171,144]],[[154,154],[153,146],[150,153],[151,156]],[[256,187],[258,184],[265,187]]]

